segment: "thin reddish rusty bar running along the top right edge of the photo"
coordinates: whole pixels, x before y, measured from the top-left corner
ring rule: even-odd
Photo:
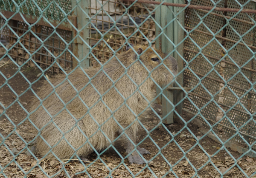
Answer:
[[[156,4],[156,5],[161,4],[161,2],[150,1],[150,0],[127,0],[127,1],[131,1],[131,2],[136,1],[137,3]],[[196,5],[189,5],[188,6],[187,4],[178,4],[178,3],[163,3],[162,5],[183,7],[183,8],[187,6],[186,8],[203,9],[203,10],[212,10],[212,9],[214,9],[214,11],[226,11],[226,12],[239,12],[241,10],[240,8],[223,8],[223,7],[196,6]],[[243,9],[240,12],[256,14],[256,10],[252,10],[252,9]]]

